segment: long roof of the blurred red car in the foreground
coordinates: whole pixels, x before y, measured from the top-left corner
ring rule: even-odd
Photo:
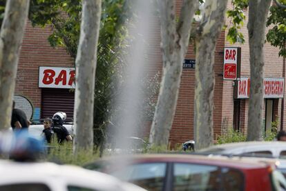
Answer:
[[[239,157],[209,157],[196,154],[137,154],[132,156],[106,157],[95,161],[95,163],[108,162],[112,165],[118,163],[157,163],[157,162],[178,162],[178,163],[198,163],[203,165],[218,165],[237,169],[267,168],[267,163],[245,161]],[[86,165],[87,166],[87,165]]]

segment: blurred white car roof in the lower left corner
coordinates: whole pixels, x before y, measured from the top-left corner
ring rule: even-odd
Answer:
[[[92,188],[112,190],[120,188],[121,181],[108,174],[85,170],[73,165],[55,163],[19,163],[0,160],[0,185],[10,183],[45,183],[49,181],[66,181],[72,185],[90,185]]]

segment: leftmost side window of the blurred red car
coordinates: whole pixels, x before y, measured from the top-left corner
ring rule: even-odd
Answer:
[[[146,190],[162,190],[166,174],[166,163],[139,163],[111,172],[123,181],[129,181]]]

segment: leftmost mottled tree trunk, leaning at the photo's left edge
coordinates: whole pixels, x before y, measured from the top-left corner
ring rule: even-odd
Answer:
[[[19,52],[29,0],[8,0],[0,33],[0,130],[10,127]]]

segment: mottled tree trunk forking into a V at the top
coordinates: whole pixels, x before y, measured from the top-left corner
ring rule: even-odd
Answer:
[[[183,1],[177,26],[175,2],[160,0],[158,6],[161,22],[163,74],[149,141],[153,145],[166,146],[175,115],[182,63],[189,46],[191,23],[198,8],[198,0]]]

